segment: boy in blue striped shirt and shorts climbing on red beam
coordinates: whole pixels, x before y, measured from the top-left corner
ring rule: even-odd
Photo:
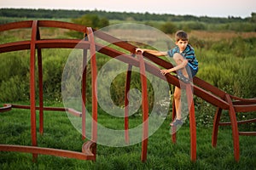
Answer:
[[[189,45],[189,37],[185,31],[177,31],[175,34],[176,47],[168,50],[167,52],[160,52],[151,49],[137,48],[136,51],[147,52],[156,56],[169,55],[176,62],[176,66],[171,69],[161,70],[161,74],[166,75],[172,71],[177,71],[177,77],[183,82],[189,83],[189,79],[195,77],[198,71],[198,61],[195,58],[195,50]],[[174,90],[175,109],[177,111],[176,119],[170,123],[171,126],[182,125],[181,116],[181,89],[175,87]]]

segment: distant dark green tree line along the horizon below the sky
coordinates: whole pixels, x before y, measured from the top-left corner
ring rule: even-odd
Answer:
[[[241,17],[229,16],[208,17],[194,15],[175,15],[175,14],[154,14],[154,13],[131,13],[131,12],[107,12],[105,10],[67,10],[67,9],[32,9],[32,8],[0,8],[0,17],[19,17],[19,18],[79,18],[84,14],[96,14],[108,20],[163,20],[163,21],[197,21],[205,23],[231,23],[231,22],[254,22],[256,13],[251,17],[242,19]]]

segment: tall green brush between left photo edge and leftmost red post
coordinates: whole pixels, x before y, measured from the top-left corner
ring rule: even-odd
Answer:
[[[29,98],[29,65],[26,52],[0,56],[0,101],[19,101]]]

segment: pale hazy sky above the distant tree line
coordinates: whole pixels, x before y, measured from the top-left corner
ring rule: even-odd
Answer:
[[[104,10],[209,17],[250,17],[255,0],[0,0],[0,8]]]

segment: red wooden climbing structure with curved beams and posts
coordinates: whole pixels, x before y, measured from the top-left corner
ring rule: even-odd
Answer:
[[[80,39],[41,39],[40,38],[40,28],[42,27],[55,27],[63,28],[73,31],[83,32],[87,35],[87,38],[81,42]],[[130,52],[135,53],[137,47],[131,45],[131,43],[119,40],[116,37],[108,35],[104,32],[94,31],[90,27],[79,26],[72,23],[52,21],[52,20],[28,20],[21,22],[14,22],[0,26],[0,31],[9,31],[20,28],[31,28],[31,40],[20,41],[20,42],[8,42],[0,44],[0,53],[7,53],[19,50],[30,50],[30,105],[15,105],[6,104],[0,108],[0,112],[10,111],[12,108],[17,109],[28,109],[31,111],[31,136],[32,145],[22,146],[13,144],[0,144],[0,151],[18,151],[32,153],[33,158],[37,158],[38,154],[53,155],[53,156],[66,156],[81,160],[96,160],[96,139],[97,139],[97,98],[96,91],[92,90],[92,139],[87,141],[82,146],[82,152],[71,151],[71,150],[57,150],[52,148],[39,147],[37,143],[37,125],[36,125],[36,111],[39,111],[39,133],[44,133],[44,111],[67,111],[75,116],[80,116],[82,121],[82,129],[85,129],[85,108],[82,107],[82,111],[75,111],[73,108],[56,108],[56,107],[46,107],[44,106],[43,99],[43,65],[42,65],[42,52],[43,48],[80,48],[84,50],[84,65],[86,63],[87,50],[90,50],[91,61],[90,65],[92,68],[91,78],[92,78],[92,88],[96,89],[96,52],[106,54],[109,57],[115,58],[117,56],[123,56],[124,58],[119,58],[121,61],[127,63],[128,70],[126,74],[126,86],[125,86],[125,105],[128,105],[127,93],[130,88],[131,82],[131,71],[129,67],[136,66],[140,69],[141,82],[142,82],[142,95],[143,95],[143,122],[147,122],[148,119],[148,93],[147,93],[147,77],[145,77],[145,72],[148,71],[155,77],[163,77],[160,75],[160,68],[155,65],[160,65],[164,68],[171,68],[172,64],[166,62],[163,59],[157,58],[152,54],[144,53],[137,54],[137,58],[132,57],[129,54],[124,54],[116,49],[105,47],[100,43],[94,41],[94,37],[101,38],[103,41],[113,43],[119,48],[123,48]],[[78,45],[79,44],[79,45]],[[36,59],[36,56],[38,59]],[[143,58],[149,59],[155,65],[152,65]],[[124,59],[124,60],[122,60]],[[36,64],[36,60],[38,63]],[[36,74],[35,68],[38,65],[38,92],[39,92],[39,105],[36,105]],[[86,69],[83,71],[82,79],[82,98],[85,101],[85,84],[86,84]],[[230,125],[233,135],[233,145],[234,145],[234,156],[235,160],[239,161],[240,151],[239,151],[239,135],[256,135],[256,132],[239,132],[238,125],[241,123],[251,123],[256,122],[256,119],[251,119],[247,121],[239,122],[236,120],[237,112],[251,112],[256,111],[256,99],[241,99],[230,94],[226,94],[224,91],[212,86],[211,84],[204,82],[198,77],[193,79],[193,83],[185,84],[179,82],[177,77],[171,74],[163,77],[168,83],[175,85],[177,87],[184,86],[187,90],[187,99],[189,102],[189,128],[190,128],[190,157],[191,161],[196,160],[196,127],[195,127],[195,108],[193,103],[193,94],[201,99],[206,100],[208,103],[217,107],[215,113],[213,130],[212,130],[212,146],[216,147],[218,139],[218,127],[223,125]],[[82,104],[81,104],[82,105]],[[175,105],[173,107],[172,118],[176,116]],[[222,111],[229,111],[230,122],[220,122],[220,117]],[[128,110],[125,110],[125,130],[128,132]],[[85,132],[82,132],[83,139],[86,138]],[[129,138],[128,133],[125,133],[125,138]],[[172,134],[172,141],[176,142],[176,133]],[[147,148],[148,148],[148,123],[143,123],[143,139],[142,139],[142,161],[147,159]]]

